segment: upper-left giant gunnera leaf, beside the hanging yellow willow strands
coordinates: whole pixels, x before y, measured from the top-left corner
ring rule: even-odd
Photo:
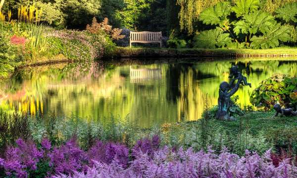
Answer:
[[[199,20],[206,25],[226,25],[227,16],[230,15],[231,5],[229,2],[219,2],[215,6],[206,8],[200,13]]]

